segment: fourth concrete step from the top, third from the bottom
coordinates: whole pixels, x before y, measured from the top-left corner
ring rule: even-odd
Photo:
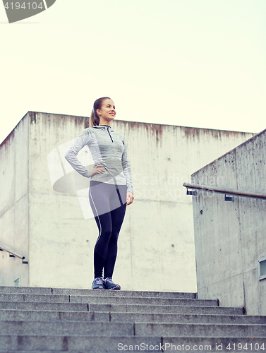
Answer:
[[[112,313],[101,311],[35,311],[0,309],[0,321],[95,321],[144,323],[253,323],[266,324],[266,316]]]

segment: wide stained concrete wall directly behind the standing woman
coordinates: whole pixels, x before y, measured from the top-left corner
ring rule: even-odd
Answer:
[[[56,189],[73,170],[64,160],[69,141],[88,119],[40,112],[28,112],[26,119],[28,283],[90,288],[98,229],[85,210],[87,190]],[[114,280],[122,289],[195,292],[192,201],[183,182],[253,134],[118,120],[111,126],[126,136],[135,196],[119,235]],[[80,160],[90,160],[86,153],[80,151]]]

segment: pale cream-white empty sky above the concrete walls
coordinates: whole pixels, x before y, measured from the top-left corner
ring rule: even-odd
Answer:
[[[28,112],[258,133],[265,0],[56,0],[8,23],[0,4],[0,143]]]

